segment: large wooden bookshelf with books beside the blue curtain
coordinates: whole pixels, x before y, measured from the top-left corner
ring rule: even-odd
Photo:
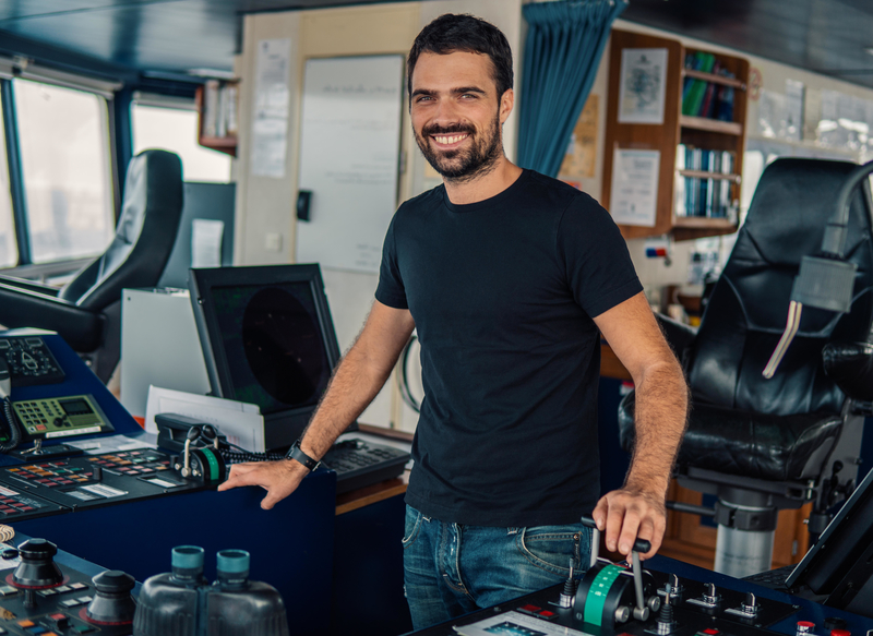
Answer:
[[[622,77],[622,59],[631,49],[654,60],[666,51],[661,71],[662,120],[620,121],[631,77]],[[602,203],[613,212],[613,170],[619,151],[657,151],[654,219],[645,225],[617,223],[626,239],[671,233],[690,240],[737,230],[743,149],[745,147],[746,81],[743,58],[683,46],[679,40],[613,29],[610,48]],[[650,80],[650,77],[649,77]],[[655,82],[655,85],[660,85]],[[657,95],[657,92],[655,92]],[[632,118],[630,118],[632,119]],[[653,170],[654,172],[654,170]]]

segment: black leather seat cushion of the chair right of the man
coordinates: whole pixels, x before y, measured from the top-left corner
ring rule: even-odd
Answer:
[[[634,393],[619,406],[621,445],[634,442]],[[678,466],[769,481],[813,479],[839,436],[839,413],[768,416],[694,404]]]

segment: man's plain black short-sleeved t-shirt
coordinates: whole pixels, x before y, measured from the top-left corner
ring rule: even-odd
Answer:
[[[609,214],[525,170],[486,201],[404,203],[375,298],[409,309],[424,399],[406,502],[477,526],[578,521],[599,497],[599,332],[642,290]]]

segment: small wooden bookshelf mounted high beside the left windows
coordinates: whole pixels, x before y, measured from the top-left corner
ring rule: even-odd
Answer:
[[[199,113],[198,143],[237,156],[239,80],[208,80],[195,95]]]

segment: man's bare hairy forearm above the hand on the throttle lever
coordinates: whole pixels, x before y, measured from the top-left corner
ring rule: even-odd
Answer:
[[[687,409],[687,385],[674,359],[646,370],[636,384],[636,442],[625,488],[663,500]]]

